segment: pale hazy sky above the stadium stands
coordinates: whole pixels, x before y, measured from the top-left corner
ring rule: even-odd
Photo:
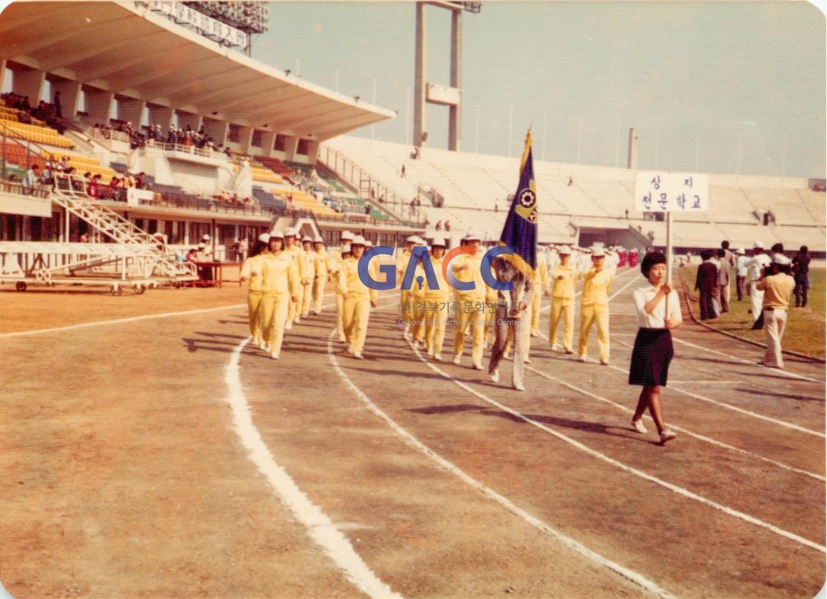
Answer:
[[[429,83],[450,12],[427,7]],[[414,2],[270,2],[253,58],[399,112],[354,132],[410,143]],[[461,150],[712,173],[825,176],[825,16],[808,2],[483,2],[462,17]],[[375,89],[375,96],[374,96]],[[447,147],[428,105],[428,145]]]

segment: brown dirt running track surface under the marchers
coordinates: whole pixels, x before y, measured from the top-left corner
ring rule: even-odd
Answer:
[[[288,332],[278,362],[247,345],[238,377],[275,462],[405,596],[652,595],[608,560],[677,596],[812,597],[825,554],[801,540],[825,544],[824,366],[787,360],[788,373],[815,382],[758,368],[749,363],[761,349],[687,322],[665,415],[702,438],[679,432],[661,447],[651,421],[637,435],[622,409],[637,400],[622,371],[641,283],[629,271],[614,283],[611,367],[535,338],[526,392],[504,383],[510,363],[500,384],[468,368],[467,354],[461,366],[430,368],[403,340],[392,293],[370,316],[365,360],[330,340],[328,307]],[[225,376],[247,335],[246,310],[232,307],[244,301],[235,286],[0,293],[0,580],[12,595],[361,594],[234,430]],[[449,327],[443,356],[452,339]]]

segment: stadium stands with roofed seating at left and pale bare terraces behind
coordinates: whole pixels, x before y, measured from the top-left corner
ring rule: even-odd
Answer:
[[[174,262],[205,235],[215,259],[236,260],[242,240],[273,227],[328,246],[347,229],[392,246],[412,234],[455,244],[468,229],[498,238],[517,159],[347,135],[395,112],[251,59],[265,14],[244,25],[243,10],[223,15],[213,4],[45,2],[35,14],[14,3],[2,12],[3,281],[25,288],[103,273],[114,290],[146,282],[155,251],[170,263],[155,274],[180,282],[194,270]],[[211,29],[222,18],[229,29]],[[664,245],[661,214],[627,211],[634,169],[534,164],[541,243]],[[36,180],[26,176],[35,166]],[[711,210],[677,216],[676,250],[760,238],[823,252],[824,188],[712,174]],[[82,241],[135,245],[140,272],[127,267],[129,251],[74,245]]]

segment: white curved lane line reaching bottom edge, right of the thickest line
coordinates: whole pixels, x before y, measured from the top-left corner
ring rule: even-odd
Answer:
[[[457,476],[457,478],[460,478],[462,482],[482,492],[486,497],[489,497],[490,499],[499,503],[501,506],[503,506],[511,513],[515,514],[516,516],[519,516],[524,521],[528,522],[528,524],[533,525],[535,528],[542,530],[548,535],[552,535],[552,537],[560,541],[562,544],[566,545],[566,547],[574,549],[578,554],[585,556],[587,559],[590,559],[591,561],[599,564],[602,567],[608,568],[614,573],[618,573],[620,576],[627,578],[631,582],[634,582],[638,586],[643,587],[647,591],[653,592],[660,597],[673,597],[672,594],[670,594],[667,591],[664,591],[661,587],[658,587],[655,582],[652,582],[648,578],[645,578],[643,574],[634,572],[629,568],[624,568],[624,566],[621,566],[619,563],[615,563],[612,560],[595,553],[595,551],[592,551],[585,545],[579,543],[574,539],[571,539],[571,537],[563,535],[559,530],[552,528],[550,525],[547,525],[545,522],[539,520],[536,516],[532,516],[519,506],[514,505],[514,503],[509,501],[507,497],[500,495],[500,493],[494,491],[490,487],[486,487],[484,484],[477,481],[476,478],[471,478],[471,476],[466,474],[465,471],[461,470],[461,468],[458,468],[455,464],[452,464],[452,462],[449,462],[447,459],[444,459],[441,455],[434,452],[433,449],[430,449],[428,445],[423,444],[416,437],[414,437],[414,435],[411,435],[407,430],[404,430],[404,428],[397,424],[396,421],[394,421],[390,416],[385,414],[384,411],[380,410],[379,406],[376,406],[374,402],[370,401],[370,397],[367,397],[366,394],[362,392],[359,387],[356,387],[356,384],[354,384],[351,381],[351,379],[348,378],[347,374],[344,373],[342,368],[339,366],[336,355],[333,352],[332,345],[333,335],[336,335],[336,333],[337,330],[333,329],[327,338],[327,355],[330,358],[330,364],[332,364],[333,369],[336,371],[339,377],[342,378],[342,381],[347,385],[347,387],[351,389],[354,395],[356,395],[356,397],[358,397],[359,400],[363,404],[365,404],[367,409],[373,412],[375,416],[378,416],[381,420],[385,421],[388,425],[390,425],[390,428],[393,429],[397,435],[402,437],[406,443],[408,443],[415,449],[418,449],[423,454],[427,455],[428,458],[433,459],[435,462],[437,462],[437,464],[442,466],[442,468],[445,468],[449,473],[452,473],[453,475]]]

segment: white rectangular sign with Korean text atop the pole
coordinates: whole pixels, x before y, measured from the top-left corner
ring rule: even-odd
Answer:
[[[638,212],[706,212],[710,182],[705,174],[638,171],[634,210]]]

